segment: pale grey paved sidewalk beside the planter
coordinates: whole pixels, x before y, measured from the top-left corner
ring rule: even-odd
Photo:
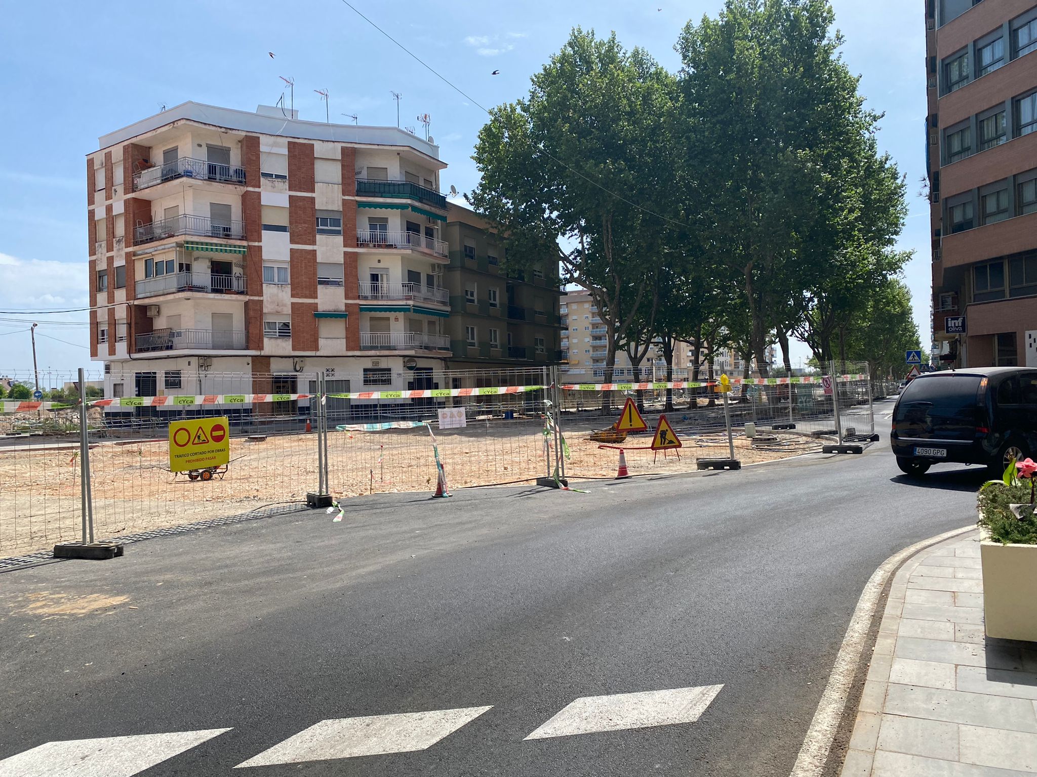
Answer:
[[[1037,644],[987,639],[979,533],[893,579],[842,777],[1037,774]]]

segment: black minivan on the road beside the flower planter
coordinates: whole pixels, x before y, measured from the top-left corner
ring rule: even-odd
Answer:
[[[933,464],[986,464],[1037,454],[1037,369],[982,367],[912,380],[893,410],[897,466],[924,474]]]

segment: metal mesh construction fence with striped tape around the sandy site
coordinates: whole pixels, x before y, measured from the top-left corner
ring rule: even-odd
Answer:
[[[665,412],[683,444],[656,453],[646,450],[650,430],[632,435],[633,473],[688,471],[697,457],[726,452],[724,411],[708,381],[567,383],[554,367],[404,373],[395,384],[407,388],[396,390],[385,387],[393,376],[340,372],[177,371],[161,387],[155,373],[138,373],[125,384],[134,396],[104,396],[103,374],[41,372],[38,384],[50,388],[39,400],[0,400],[0,556],[302,509],[309,493],[430,493],[441,471],[450,488],[611,479],[617,452],[601,447],[600,433],[627,396],[650,427]],[[859,365],[733,382],[729,415],[747,462],[874,430]],[[204,477],[171,471],[170,423],[223,415],[229,464]]]

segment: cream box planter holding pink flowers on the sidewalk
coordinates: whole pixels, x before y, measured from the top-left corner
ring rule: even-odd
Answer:
[[[1037,642],[1037,545],[1002,545],[984,537],[979,553],[986,635]]]

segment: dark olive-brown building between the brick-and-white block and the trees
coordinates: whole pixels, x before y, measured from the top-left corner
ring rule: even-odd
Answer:
[[[502,270],[503,247],[489,225],[448,203],[446,238],[453,369],[543,367],[561,361],[558,267]],[[526,277],[526,276],[529,277]]]

